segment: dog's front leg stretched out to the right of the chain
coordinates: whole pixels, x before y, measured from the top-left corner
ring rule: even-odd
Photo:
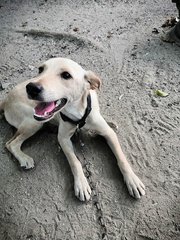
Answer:
[[[107,124],[100,113],[93,115],[90,126],[93,130],[97,131],[98,134],[107,140],[108,145],[117,158],[118,166],[123,174],[130,195],[135,198],[140,198],[145,194],[144,184],[136,176],[130,164],[128,163],[121,149],[116,133]]]

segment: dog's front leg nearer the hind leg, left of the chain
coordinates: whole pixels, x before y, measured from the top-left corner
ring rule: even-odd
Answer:
[[[76,197],[81,201],[88,201],[91,196],[91,188],[84,176],[83,169],[80,161],[77,159],[73,145],[71,142],[71,137],[75,132],[75,127],[69,123],[62,123],[59,125],[58,141],[59,144],[68,159],[69,165],[71,167],[74,176],[74,191]]]

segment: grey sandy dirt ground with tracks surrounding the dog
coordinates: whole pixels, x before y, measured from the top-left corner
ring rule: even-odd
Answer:
[[[93,196],[81,203],[56,129],[26,141],[36,167],[24,172],[5,149],[14,129],[1,117],[0,240],[180,239],[180,48],[159,36],[176,13],[170,0],[0,1],[0,98],[52,56],[93,70],[101,112],[146,185],[131,198],[105,141],[82,134]]]

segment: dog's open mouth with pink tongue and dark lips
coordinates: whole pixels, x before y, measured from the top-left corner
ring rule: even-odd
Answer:
[[[56,112],[61,110],[67,103],[66,98],[61,98],[52,102],[40,102],[34,108],[34,118],[37,121],[45,121],[54,116]]]

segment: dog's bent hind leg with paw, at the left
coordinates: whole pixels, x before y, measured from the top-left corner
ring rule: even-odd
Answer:
[[[6,143],[6,148],[13,154],[13,156],[19,161],[20,166],[24,169],[33,168],[34,160],[22,152],[21,146],[23,142],[34,135],[42,125],[43,124],[40,123],[30,124],[24,121],[15,135]]]

